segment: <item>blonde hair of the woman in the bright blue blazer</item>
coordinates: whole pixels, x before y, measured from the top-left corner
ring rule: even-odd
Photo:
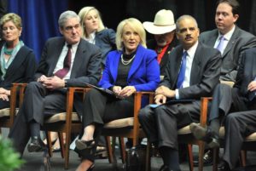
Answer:
[[[147,48],[146,31],[143,28],[143,24],[141,23],[141,21],[139,21],[135,18],[129,18],[129,19],[122,20],[119,23],[119,26],[117,27],[116,37],[115,37],[115,43],[116,43],[117,49],[123,50],[123,48],[124,48],[122,36],[123,36],[123,31],[124,31],[125,25],[131,26],[131,29],[138,33],[139,37],[141,38],[140,44],[143,45],[143,47]]]

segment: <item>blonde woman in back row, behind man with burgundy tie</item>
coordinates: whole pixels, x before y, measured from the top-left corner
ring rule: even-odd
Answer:
[[[116,49],[115,31],[104,26],[101,14],[95,7],[84,7],[79,11],[79,17],[84,28],[83,38],[101,48],[104,67],[108,52]]]

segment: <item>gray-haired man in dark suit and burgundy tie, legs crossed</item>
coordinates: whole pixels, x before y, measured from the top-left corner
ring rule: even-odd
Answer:
[[[58,22],[63,37],[49,38],[45,43],[35,82],[27,85],[23,105],[9,134],[21,154],[30,138],[28,151],[44,148],[40,125],[44,124],[45,115],[66,111],[68,87],[84,87],[100,79],[100,49],[81,38],[79,21],[73,11],[62,13]],[[81,97],[75,96],[74,109],[79,114],[82,105]]]

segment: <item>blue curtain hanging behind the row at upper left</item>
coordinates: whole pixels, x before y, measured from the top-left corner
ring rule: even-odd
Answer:
[[[22,19],[21,39],[40,59],[49,37],[60,36],[59,15],[68,9],[68,0],[9,0],[9,12]]]

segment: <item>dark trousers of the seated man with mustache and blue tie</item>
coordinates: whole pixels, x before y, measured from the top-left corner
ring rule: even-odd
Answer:
[[[138,119],[149,142],[177,150],[177,129],[199,121],[200,103],[196,100],[186,104],[160,105],[154,109],[149,105],[143,108]]]

